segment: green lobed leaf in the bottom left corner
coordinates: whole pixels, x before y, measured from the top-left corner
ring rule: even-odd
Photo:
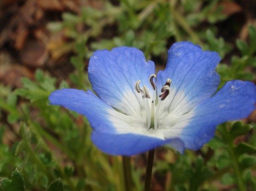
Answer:
[[[25,191],[24,178],[18,169],[12,172],[11,180],[1,178],[0,185],[3,191]]]

